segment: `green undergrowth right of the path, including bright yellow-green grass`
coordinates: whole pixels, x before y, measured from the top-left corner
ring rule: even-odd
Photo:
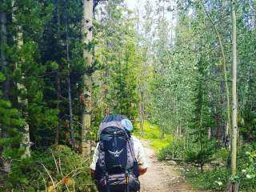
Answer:
[[[188,154],[191,150],[197,150],[198,146],[193,142],[183,138],[172,140],[170,134],[166,134],[161,140],[161,129],[159,126],[145,122],[144,135],[140,136],[139,122],[134,125],[134,135],[142,140],[150,141],[150,145],[157,152],[159,160],[165,160],[168,157],[174,157],[187,161]],[[188,145],[188,146],[187,146]],[[210,160],[221,162],[226,165],[229,151],[226,148],[216,148],[210,155]],[[210,162],[206,162],[206,166]],[[240,183],[239,191],[256,192],[256,144],[243,145],[238,152],[238,181]],[[226,166],[210,166],[204,168],[203,173],[197,166],[183,164],[181,172],[186,176],[186,180],[194,188],[203,191],[225,191],[226,184],[230,179],[230,169]]]

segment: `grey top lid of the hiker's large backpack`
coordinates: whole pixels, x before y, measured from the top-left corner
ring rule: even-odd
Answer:
[[[99,134],[102,133],[102,130],[105,130],[107,127],[114,126],[122,130],[126,130],[122,126],[122,119],[125,119],[121,114],[108,115],[103,118],[101,125],[99,126]]]

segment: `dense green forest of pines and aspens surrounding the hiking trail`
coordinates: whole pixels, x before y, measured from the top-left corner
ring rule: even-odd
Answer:
[[[1,0],[0,25],[1,191],[94,191],[108,114],[200,188],[256,191],[255,0]]]

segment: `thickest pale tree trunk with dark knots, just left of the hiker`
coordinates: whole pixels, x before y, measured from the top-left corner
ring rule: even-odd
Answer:
[[[83,43],[88,44],[93,38],[92,25],[93,25],[93,0],[83,1],[83,28],[82,33],[84,35]],[[83,58],[85,59],[86,69],[90,69],[92,66],[92,55],[90,50],[83,50]],[[89,71],[83,74],[82,78],[82,155],[86,156],[90,154],[90,120],[91,120],[91,74]]]

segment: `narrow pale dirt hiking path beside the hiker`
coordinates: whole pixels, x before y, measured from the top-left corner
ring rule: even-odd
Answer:
[[[150,142],[142,141],[150,168],[140,177],[141,192],[196,192],[179,174],[178,166],[168,165],[167,162],[158,162]]]

